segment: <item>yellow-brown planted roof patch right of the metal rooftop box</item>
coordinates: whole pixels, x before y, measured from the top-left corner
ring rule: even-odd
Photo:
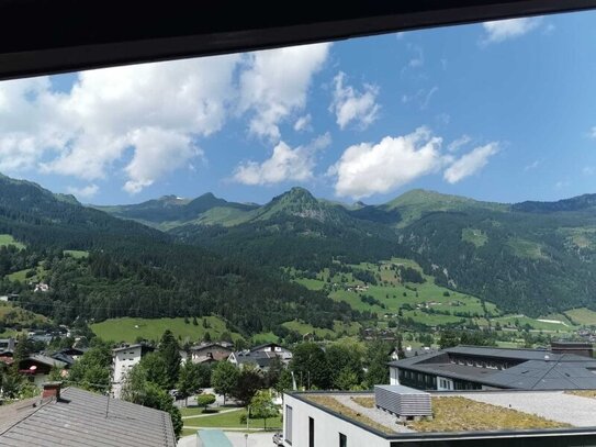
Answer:
[[[432,398],[432,420],[409,424],[416,432],[469,432],[569,427],[533,414],[460,396]]]

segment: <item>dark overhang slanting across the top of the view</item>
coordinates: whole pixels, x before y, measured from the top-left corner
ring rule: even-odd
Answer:
[[[596,0],[0,0],[0,79],[596,8]]]

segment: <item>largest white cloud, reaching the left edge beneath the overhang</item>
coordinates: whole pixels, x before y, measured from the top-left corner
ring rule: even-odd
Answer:
[[[3,82],[0,169],[93,180],[132,149],[126,190],[138,191],[199,154],[194,138],[222,128],[238,62],[222,56],[85,71],[68,92],[54,92],[48,78]],[[151,144],[143,138],[149,134]]]

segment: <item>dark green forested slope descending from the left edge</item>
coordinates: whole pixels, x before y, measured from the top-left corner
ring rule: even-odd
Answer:
[[[0,247],[0,293],[19,293],[25,309],[61,323],[216,314],[230,329],[252,334],[295,319],[319,327],[359,319],[347,304],[282,280],[277,269],[224,259],[7,177],[0,178],[0,234],[26,246]],[[33,280],[49,291],[34,292]]]

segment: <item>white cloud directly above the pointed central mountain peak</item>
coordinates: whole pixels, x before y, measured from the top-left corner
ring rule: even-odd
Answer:
[[[306,146],[292,149],[284,142],[278,143],[271,157],[263,163],[246,161],[234,171],[234,180],[244,185],[272,185],[282,181],[306,181],[313,178],[317,150],[331,143],[327,133]]]

